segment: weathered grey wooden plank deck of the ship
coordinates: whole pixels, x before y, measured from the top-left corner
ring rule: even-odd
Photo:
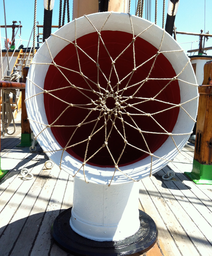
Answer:
[[[39,146],[36,153],[16,147],[20,113],[16,126],[14,135],[1,138],[1,168],[10,172],[0,182],[0,256],[71,256],[54,243],[50,227],[72,205],[73,179],[56,165],[46,170],[48,158]],[[196,185],[183,174],[192,170],[193,152],[194,145],[187,143],[169,166],[140,181],[139,207],[159,232],[146,256],[212,255],[212,186]],[[33,180],[22,180],[23,167]],[[176,176],[162,181],[170,169]]]

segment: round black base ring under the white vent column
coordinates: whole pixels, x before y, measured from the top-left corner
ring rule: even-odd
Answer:
[[[52,224],[51,234],[58,246],[77,256],[122,256],[148,251],[156,243],[158,229],[153,219],[139,210],[140,228],[120,241],[95,241],[74,232],[69,224],[71,208],[63,211]]]

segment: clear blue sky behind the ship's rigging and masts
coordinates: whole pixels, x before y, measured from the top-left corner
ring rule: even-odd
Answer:
[[[72,0],[69,0],[70,5],[70,17],[72,17]],[[135,14],[135,2],[137,0],[131,0],[131,14]],[[166,9],[165,13],[167,13],[167,3],[166,0]],[[206,5],[206,12],[205,12]],[[21,21],[22,28],[22,40],[29,40],[29,36],[31,34],[31,30],[33,29],[33,21],[34,21],[34,0],[19,0],[15,2],[11,2],[5,0],[5,8],[6,8],[6,23],[8,25],[12,24],[13,20]],[[155,12],[155,1],[152,0],[151,7],[151,21],[154,22],[154,12]],[[210,34],[212,34],[212,0],[180,0],[178,12],[175,19],[175,25],[177,27],[177,31],[183,32],[194,32],[200,33],[200,30],[205,30],[207,32],[209,30]],[[162,27],[162,13],[163,13],[163,0],[158,0],[158,16],[157,16],[157,25]],[[54,9],[53,9],[53,22],[52,25],[58,25],[58,17],[59,17],[59,0],[55,0]],[[145,13],[143,18],[145,18]],[[166,14],[165,14],[166,18]],[[39,24],[43,24],[43,1],[37,0],[37,21]],[[67,23],[67,19],[65,21]],[[0,24],[4,25],[4,6],[3,0],[0,0]],[[54,32],[54,30],[52,30]],[[8,37],[12,36],[12,29],[7,29]],[[1,28],[1,37],[5,37],[5,29]],[[16,39],[19,37],[16,36]],[[177,35],[177,41],[180,43],[181,47],[187,51],[191,49],[191,43],[182,44],[183,42],[192,42],[199,40],[198,36],[188,36],[188,35]],[[4,44],[4,40],[1,40],[2,44]],[[17,41],[18,42],[18,41]],[[24,47],[27,46],[27,41],[22,41]],[[193,49],[199,47],[198,42],[193,43]],[[212,46],[212,38],[209,39],[205,43],[205,47]],[[208,55],[212,55],[212,51],[208,51]]]

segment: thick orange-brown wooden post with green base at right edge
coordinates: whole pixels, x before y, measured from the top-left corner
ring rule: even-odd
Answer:
[[[184,172],[196,184],[212,184],[212,61],[204,66],[199,87],[199,107],[192,172]]]

